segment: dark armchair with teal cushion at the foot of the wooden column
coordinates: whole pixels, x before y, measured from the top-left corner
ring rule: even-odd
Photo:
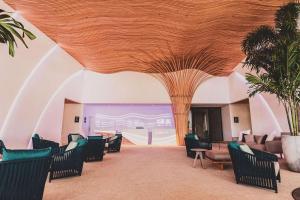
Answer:
[[[186,134],[184,141],[185,141],[186,154],[190,158],[195,158],[196,156],[196,153],[191,150],[193,148],[201,148],[201,149],[208,149],[208,150],[212,149],[212,143],[200,139],[194,133]]]

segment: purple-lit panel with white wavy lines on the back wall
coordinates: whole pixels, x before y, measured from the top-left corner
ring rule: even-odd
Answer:
[[[174,129],[170,104],[85,104],[83,130]]]

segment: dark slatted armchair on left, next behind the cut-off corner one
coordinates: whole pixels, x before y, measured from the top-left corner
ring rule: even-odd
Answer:
[[[52,159],[49,182],[58,178],[81,176],[86,144],[86,139],[80,139],[78,146],[72,150],[65,151],[67,145],[60,147],[59,153]]]

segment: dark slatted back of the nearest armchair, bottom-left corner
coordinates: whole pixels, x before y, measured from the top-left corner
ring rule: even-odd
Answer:
[[[0,162],[0,199],[41,200],[51,158]]]

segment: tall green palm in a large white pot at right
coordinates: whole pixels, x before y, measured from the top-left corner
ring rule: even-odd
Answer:
[[[300,33],[299,4],[288,3],[275,13],[275,27],[260,26],[242,42],[249,96],[269,93],[284,106],[290,135],[282,136],[285,159],[291,170],[300,172]]]

